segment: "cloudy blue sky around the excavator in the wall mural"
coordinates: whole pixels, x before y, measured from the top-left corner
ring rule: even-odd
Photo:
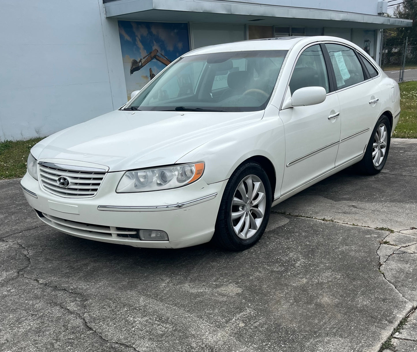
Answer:
[[[158,49],[159,53],[173,61],[190,50],[187,23],[118,21],[118,24],[128,98],[133,91],[149,82],[149,68],[155,75],[165,68],[163,63],[153,59],[131,75],[133,59],[139,61]]]

